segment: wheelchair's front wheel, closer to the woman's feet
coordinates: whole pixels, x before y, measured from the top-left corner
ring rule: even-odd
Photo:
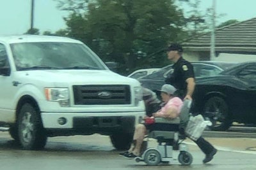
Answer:
[[[157,150],[147,150],[144,161],[148,166],[157,166],[161,162],[161,155]]]

